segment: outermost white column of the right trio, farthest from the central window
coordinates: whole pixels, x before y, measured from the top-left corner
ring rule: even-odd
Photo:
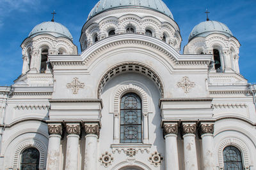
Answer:
[[[213,132],[214,124],[201,124],[201,137],[202,137],[202,147],[203,147],[203,161],[204,170],[214,170],[214,143],[213,143]]]

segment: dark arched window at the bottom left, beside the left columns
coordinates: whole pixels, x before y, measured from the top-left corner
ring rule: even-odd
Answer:
[[[36,148],[27,148],[22,152],[20,169],[32,170],[39,169],[40,153]]]

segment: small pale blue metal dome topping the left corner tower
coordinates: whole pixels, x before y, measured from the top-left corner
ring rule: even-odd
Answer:
[[[33,30],[29,33],[29,37],[35,37],[40,34],[50,34],[54,37],[65,37],[73,40],[72,35],[68,31],[67,27],[61,25],[58,22],[42,22],[36,25]]]

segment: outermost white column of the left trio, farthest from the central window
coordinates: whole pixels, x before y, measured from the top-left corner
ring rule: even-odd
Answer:
[[[49,144],[47,153],[47,170],[59,169],[60,165],[60,140],[62,134],[61,124],[48,124]]]

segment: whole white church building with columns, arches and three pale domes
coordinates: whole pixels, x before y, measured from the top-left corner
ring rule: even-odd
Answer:
[[[180,53],[161,0],[100,0],[81,54],[64,25],[36,25],[0,87],[0,169],[256,170],[239,40],[209,18],[191,30]]]

